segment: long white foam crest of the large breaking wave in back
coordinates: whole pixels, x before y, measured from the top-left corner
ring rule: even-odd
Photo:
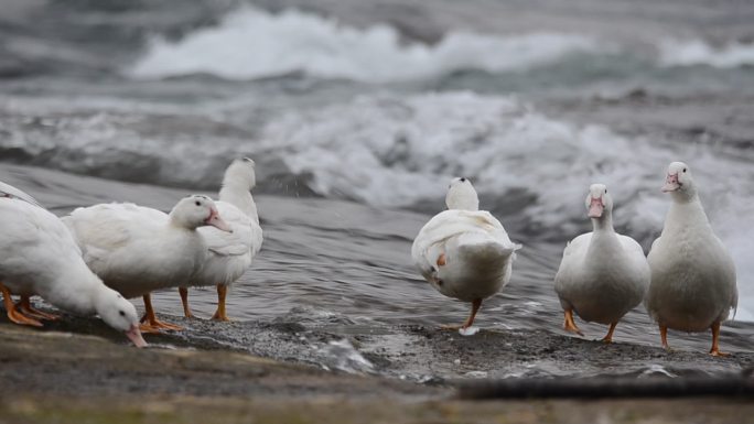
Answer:
[[[589,37],[534,33],[510,36],[451,32],[437,45],[403,44],[392,26],[367,29],[297,10],[271,14],[243,8],[218,26],[172,43],[151,40],[129,72],[136,78],[208,73],[255,79],[295,72],[323,78],[386,83],[461,69],[520,70],[601,47]]]

